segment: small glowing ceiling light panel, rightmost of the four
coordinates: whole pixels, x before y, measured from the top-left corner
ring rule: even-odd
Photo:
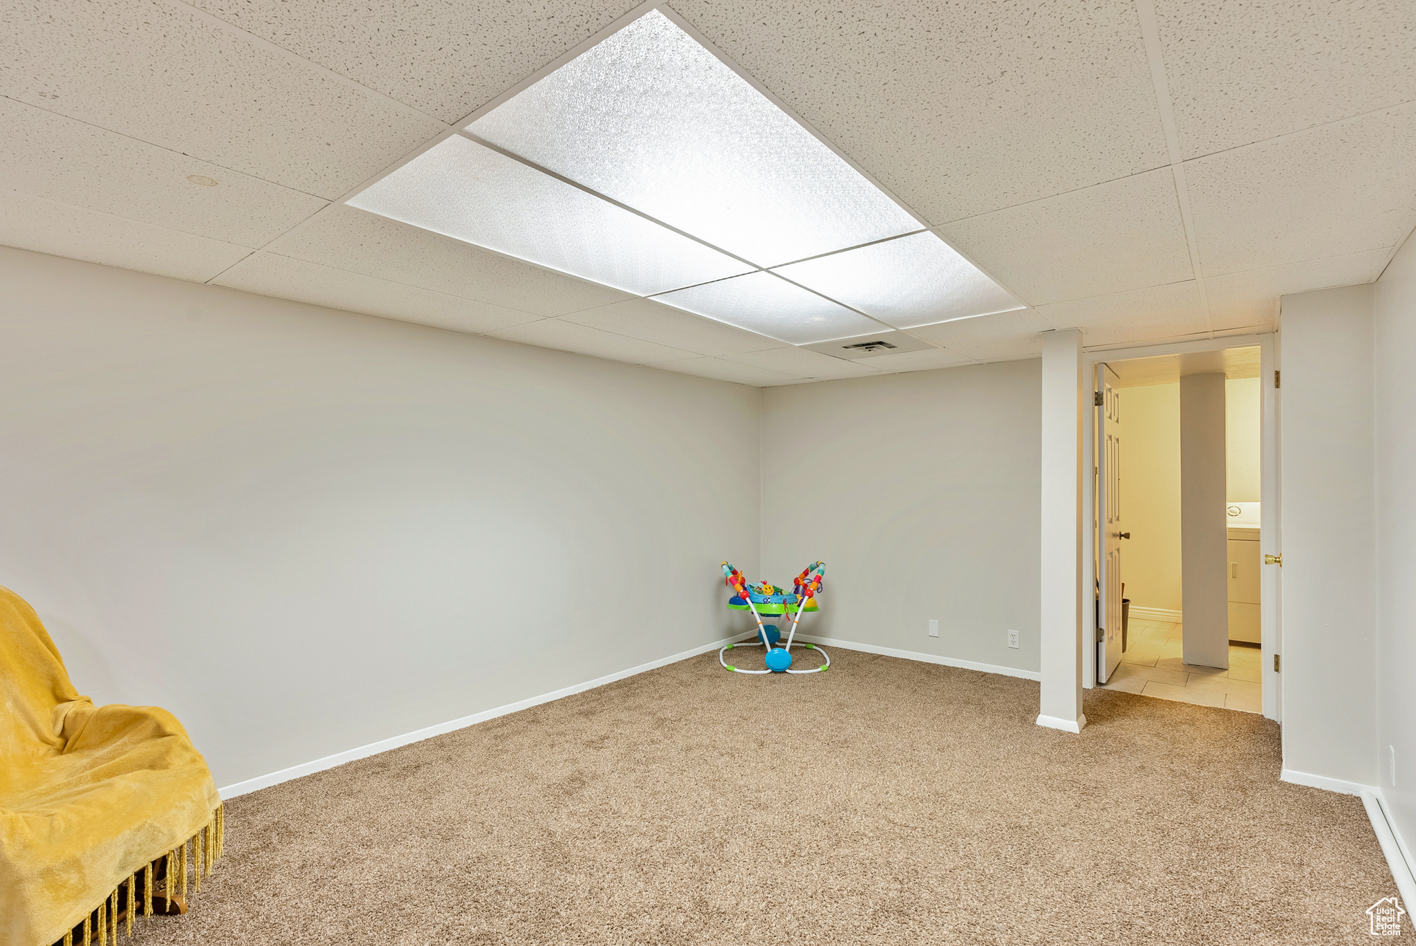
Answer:
[[[773,272],[896,329],[1022,309],[998,283],[929,232]]]

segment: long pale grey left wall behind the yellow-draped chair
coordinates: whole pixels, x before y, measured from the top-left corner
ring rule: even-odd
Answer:
[[[218,785],[741,625],[752,388],[16,249],[0,285],[0,583]]]

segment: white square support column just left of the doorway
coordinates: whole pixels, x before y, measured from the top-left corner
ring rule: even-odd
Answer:
[[[1082,333],[1042,333],[1042,707],[1039,726],[1080,732]]]

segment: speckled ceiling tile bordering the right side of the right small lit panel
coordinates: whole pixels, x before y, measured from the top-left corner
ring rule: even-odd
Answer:
[[[1194,276],[1168,167],[939,231],[1032,306]]]

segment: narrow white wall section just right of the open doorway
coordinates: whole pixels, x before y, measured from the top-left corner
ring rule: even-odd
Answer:
[[[1281,317],[1283,762],[1374,785],[1372,287],[1284,296]]]

